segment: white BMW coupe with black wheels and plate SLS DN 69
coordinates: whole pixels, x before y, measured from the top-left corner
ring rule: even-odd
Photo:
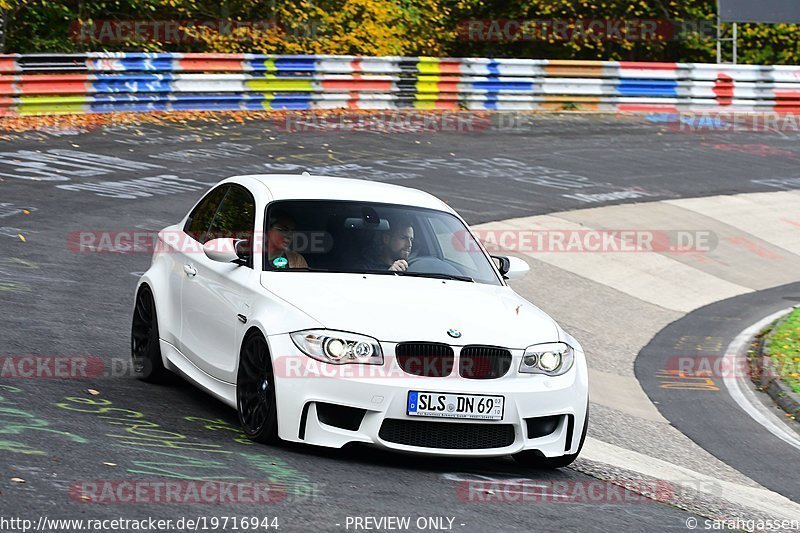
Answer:
[[[586,359],[506,284],[527,271],[419,190],[236,176],[159,232],[134,366],[235,407],[259,442],[563,467],[586,437]]]

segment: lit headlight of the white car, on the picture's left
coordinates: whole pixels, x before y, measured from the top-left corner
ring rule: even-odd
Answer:
[[[381,345],[372,337],[328,329],[296,331],[291,337],[301,352],[324,363],[383,364]]]

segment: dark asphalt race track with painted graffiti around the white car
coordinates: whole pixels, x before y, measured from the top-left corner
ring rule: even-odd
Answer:
[[[533,117],[515,128],[465,133],[292,133],[281,126],[223,119],[2,137],[0,355],[81,358],[93,361],[96,372],[80,379],[3,374],[0,514],[34,521],[277,517],[284,531],[353,530],[347,520],[354,516],[408,516],[412,523],[444,517],[445,525],[452,519],[453,530],[470,532],[685,530],[697,511],[633,493],[616,503],[464,496],[470,480],[593,479],[572,468],[535,471],[510,459],[249,443],[238,432],[236,413],[192,386],[180,380],[154,386],[131,376],[133,290],[150,257],[124,249],[77,253],[76,235],[158,230],[182,217],[219,179],[245,173],[307,170],[416,187],[448,202],[470,224],[790,190],[800,188],[797,137],[690,133],[657,119],[581,115]],[[602,312],[602,302],[583,304]],[[589,359],[591,366],[592,354]],[[700,422],[665,416],[706,450],[727,443],[733,455],[720,458],[746,469],[746,461],[733,464],[743,459],[734,457],[735,445],[724,433],[695,438]],[[773,459],[780,468],[781,459]],[[284,486],[286,497],[221,505],[81,499],[80,487],[137,479],[266,480]],[[797,500],[796,476],[794,483],[769,488]]]

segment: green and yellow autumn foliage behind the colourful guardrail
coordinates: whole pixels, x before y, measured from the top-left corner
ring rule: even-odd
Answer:
[[[0,0],[5,52],[198,51],[442,55],[713,62],[715,0]],[[470,40],[474,20],[705,21],[702,34],[671,39],[535,38]],[[269,21],[232,30],[190,23],[178,42],[81,40],[70,28],[90,21]],[[667,22],[671,21],[671,22]],[[459,29],[462,32],[459,32]],[[730,36],[731,25],[724,25]],[[800,63],[798,26],[739,25],[739,62]],[[729,59],[730,43],[725,58]]]

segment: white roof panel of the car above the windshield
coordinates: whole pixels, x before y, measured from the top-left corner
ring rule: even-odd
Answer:
[[[308,174],[249,174],[223,181],[256,181],[272,200],[352,200],[453,210],[432,194],[418,189],[368,180],[311,176]]]

